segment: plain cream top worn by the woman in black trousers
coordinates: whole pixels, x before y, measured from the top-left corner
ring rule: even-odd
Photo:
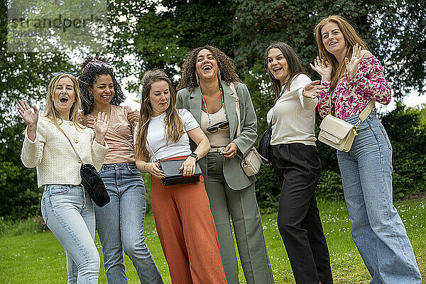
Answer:
[[[303,97],[303,87],[310,82],[307,75],[300,74],[291,82],[290,90],[281,90],[280,98],[267,116],[268,123],[273,117],[271,145],[315,145],[315,107],[318,99]]]

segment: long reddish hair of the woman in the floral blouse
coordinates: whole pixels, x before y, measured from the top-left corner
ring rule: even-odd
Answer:
[[[328,16],[327,18],[323,18],[320,23],[317,24],[317,26],[315,27],[315,38],[317,39],[318,49],[320,50],[320,58],[324,59],[325,61],[328,61],[332,66],[332,84],[330,86],[330,90],[333,90],[336,88],[340,78],[342,78],[342,76],[346,72],[346,65],[339,65],[337,58],[335,58],[332,53],[329,53],[327,51],[324,46],[324,43],[322,42],[322,27],[329,22],[336,23],[337,26],[339,26],[339,30],[343,34],[344,40],[346,41],[346,46],[348,48],[345,55],[346,58],[351,58],[352,48],[356,43],[358,43],[358,45],[361,46],[362,49],[368,50],[368,48],[364,41],[356,33],[355,29],[342,16]]]

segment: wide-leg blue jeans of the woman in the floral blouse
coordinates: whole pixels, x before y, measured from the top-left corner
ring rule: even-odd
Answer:
[[[356,124],[359,115],[346,121]],[[370,283],[422,283],[404,224],[393,206],[392,146],[375,113],[359,125],[348,153],[337,151],[352,238]]]

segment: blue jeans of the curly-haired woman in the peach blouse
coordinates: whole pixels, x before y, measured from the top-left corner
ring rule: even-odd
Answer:
[[[123,249],[141,283],[163,283],[143,236],[146,192],[141,173],[135,164],[113,164],[103,165],[99,175],[111,198],[104,207],[94,204],[108,283],[127,283]]]

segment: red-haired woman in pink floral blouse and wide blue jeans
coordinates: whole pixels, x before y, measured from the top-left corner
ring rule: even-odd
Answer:
[[[312,69],[326,86],[318,110],[356,124],[373,100],[391,102],[380,62],[341,16],[315,28],[320,57]],[[368,268],[370,283],[422,283],[413,249],[392,200],[392,146],[373,108],[359,124],[349,152],[337,151],[351,233]]]

